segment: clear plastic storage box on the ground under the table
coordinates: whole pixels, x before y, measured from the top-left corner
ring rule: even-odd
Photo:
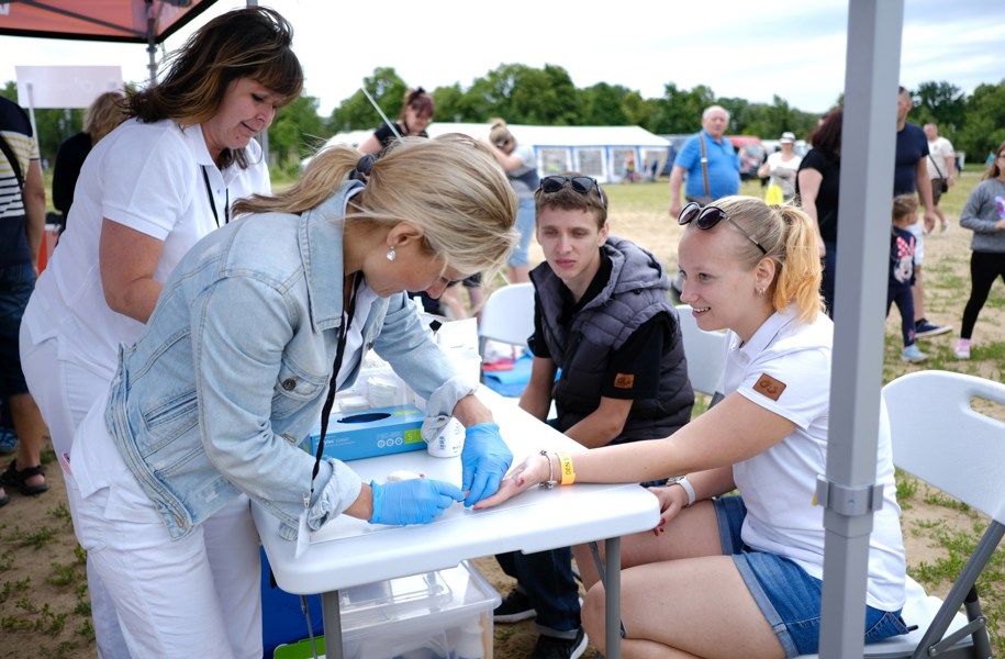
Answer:
[[[338,591],[345,659],[491,659],[499,593],[467,561]],[[317,652],[324,652],[323,639]],[[309,639],[276,659],[313,657]]]

